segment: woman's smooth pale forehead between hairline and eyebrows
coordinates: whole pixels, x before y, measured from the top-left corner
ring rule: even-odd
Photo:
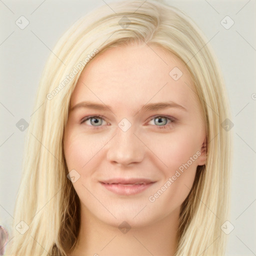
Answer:
[[[90,60],[77,81],[70,105],[85,100],[120,109],[136,108],[148,101],[172,100],[184,107],[198,104],[184,63],[160,46],[142,43],[109,48]]]

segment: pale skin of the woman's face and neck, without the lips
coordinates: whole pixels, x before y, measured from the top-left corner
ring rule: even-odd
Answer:
[[[177,80],[169,75],[175,66],[183,73]],[[201,153],[205,125],[194,91],[185,65],[156,45],[111,48],[85,66],[70,109],[90,101],[111,110],[80,106],[69,111],[64,154],[68,171],[80,175],[73,186],[80,199],[81,225],[77,247],[68,255],[174,255],[180,205],[197,165],[206,160]],[[142,108],[170,101],[170,107]],[[89,115],[100,117],[82,122]],[[127,127],[123,118],[131,125],[126,131],[118,126]],[[189,167],[166,185],[190,157]],[[154,183],[137,194],[119,195],[100,183],[110,177]],[[150,201],[164,183],[162,194]],[[131,227],[125,233],[118,228],[123,221]]]

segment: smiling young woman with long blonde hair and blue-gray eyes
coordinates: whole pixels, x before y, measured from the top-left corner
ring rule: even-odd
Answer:
[[[113,3],[53,52],[6,253],[223,255],[230,112],[191,19],[154,0]]]

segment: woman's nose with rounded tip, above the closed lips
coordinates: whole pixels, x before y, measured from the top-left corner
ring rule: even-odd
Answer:
[[[108,142],[107,160],[121,165],[141,162],[145,148],[138,137],[132,126],[126,131],[116,127],[116,134]]]

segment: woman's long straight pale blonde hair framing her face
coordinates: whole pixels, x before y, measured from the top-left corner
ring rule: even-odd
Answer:
[[[224,81],[207,39],[193,21],[156,0],[104,5],[76,21],[54,47],[26,134],[7,254],[66,255],[66,249],[75,246],[80,205],[67,178],[62,143],[70,96],[82,68],[95,54],[132,41],[160,45],[186,64],[196,88],[191,93],[198,94],[206,124],[207,161],[197,166],[181,207],[176,256],[224,254],[220,227],[229,211],[232,141],[230,131],[222,127],[230,118]]]

